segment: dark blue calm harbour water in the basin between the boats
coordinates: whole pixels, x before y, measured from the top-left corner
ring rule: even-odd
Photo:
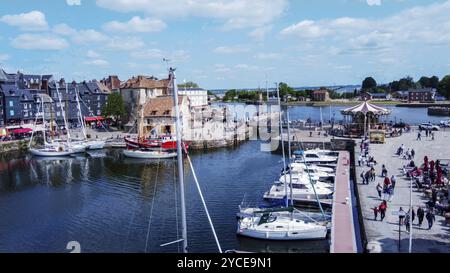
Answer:
[[[223,249],[327,251],[327,241],[273,243],[235,235],[238,205],[245,195],[261,201],[281,170],[279,155],[247,142],[192,160]],[[127,159],[120,150],[0,158],[0,252],[68,252],[69,241],[78,241],[83,252],[178,252],[178,245],[160,247],[179,238],[175,163]],[[188,170],[186,183],[190,251],[215,252]]]

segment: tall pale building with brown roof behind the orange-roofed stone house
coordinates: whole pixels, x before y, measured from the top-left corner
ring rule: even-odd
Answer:
[[[124,122],[133,126],[137,117],[137,109],[148,100],[170,95],[170,80],[158,80],[155,77],[137,76],[129,79],[120,86],[120,94],[125,103],[126,113]]]

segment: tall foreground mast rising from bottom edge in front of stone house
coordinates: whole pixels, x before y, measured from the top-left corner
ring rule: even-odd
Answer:
[[[178,159],[178,180],[180,182],[180,202],[181,202],[181,234],[183,237],[183,252],[188,252],[188,240],[187,240],[187,221],[186,221],[186,201],[184,198],[184,171],[183,171],[183,151],[182,145],[182,127],[180,121],[180,108],[178,105],[178,86],[177,78],[175,75],[175,69],[169,69],[169,77],[172,80],[173,86],[173,102],[175,108],[175,126],[177,132],[177,159]]]

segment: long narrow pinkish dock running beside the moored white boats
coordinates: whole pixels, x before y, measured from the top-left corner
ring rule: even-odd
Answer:
[[[352,188],[350,181],[350,154],[339,152],[334,183],[331,253],[357,253],[354,225]]]

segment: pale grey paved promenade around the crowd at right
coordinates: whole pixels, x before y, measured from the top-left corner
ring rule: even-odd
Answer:
[[[356,162],[356,173],[358,176],[358,190],[361,199],[361,209],[364,217],[364,226],[368,241],[369,252],[408,252],[409,233],[406,227],[401,227],[400,249],[399,249],[399,218],[398,211],[402,207],[409,210],[410,205],[410,181],[401,175],[401,169],[408,164],[408,160],[395,156],[397,149],[404,144],[406,148],[415,150],[416,164],[422,164],[423,158],[449,159],[450,158],[450,132],[437,132],[435,140],[422,136],[422,140],[417,140],[417,132],[407,133],[401,137],[389,138],[386,144],[370,144],[370,155],[375,158],[377,165],[376,180],[369,185],[363,185],[359,174],[369,170],[368,167],[358,167]],[[356,160],[360,155],[359,143],[355,147]],[[383,222],[374,221],[372,208],[379,206],[382,199],[379,198],[376,186],[383,185],[384,178],[380,177],[382,165],[386,165],[388,177],[396,176],[396,186],[394,196],[387,204],[386,218]],[[383,196],[382,196],[383,197]],[[428,198],[423,193],[413,189],[413,206],[417,210],[419,205],[424,206]],[[450,226],[445,222],[444,217],[436,215],[436,222],[431,230],[428,230],[427,220],[422,226],[418,226],[417,217],[413,222],[413,252],[418,253],[449,253],[450,252]]]

